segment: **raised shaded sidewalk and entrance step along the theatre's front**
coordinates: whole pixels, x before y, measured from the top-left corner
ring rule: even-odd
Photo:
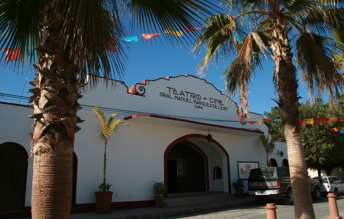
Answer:
[[[224,196],[224,194],[222,194]],[[212,196],[212,195],[209,195]],[[206,203],[192,203],[183,204],[178,206],[164,206],[163,208],[135,208],[135,209],[126,209],[126,210],[116,210],[111,211],[110,214],[99,215],[96,213],[82,213],[82,214],[71,214],[71,219],[146,219],[146,218],[160,218],[160,217],[172,217],[177,215],[184,215],[184,214],[192,214],[196,212],[203,212],[203,211],[210,211],[222,208],[230,208],[230,207],[238,207],[238,206],[245,206],[251,205],[256,203],[255,196],[248,196],[244,198],[235,198],[230,195],[226,195],[227,198],[223,198],[221,196],[220,199],[215,200],[215,196],[210,198]],[[196,196],[198,198],[204,199],[201,196]],[[182,197],[183,203],[186,200],[193,200],[196,199],[184,199],[184,198],[192,198],[192,197]],[[193,197],[195,198],[195,197]],[[179,198],[171,198],[172,199],[179,199]],[[165,200],[166,201],[166,200]],[[177,217],[176,217],[177,218]]]

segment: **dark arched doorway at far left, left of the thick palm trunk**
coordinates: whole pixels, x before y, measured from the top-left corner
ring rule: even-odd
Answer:
[[[24,209],[28,153],[14,142],[0,145],[0,212]]]

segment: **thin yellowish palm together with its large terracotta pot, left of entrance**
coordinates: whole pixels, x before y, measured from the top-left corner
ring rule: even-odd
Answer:
[[[114,192],[110,192],[110,187],[112,184],[110,185],[109,183],[106,183],[106,144],[113,132],[115,132],[121,125],[128,126],[128,124],[121,119],[115,120],[115,118],[118,116],[117,113],[112,114],[109,118],[109,121],[107,121],[104,112],[98,107],[92,107],[92,110],[98,118],[101,130],[100,138],[105,142],[104,178],[103,183],[98,185],[99,192],[95,192],[96,211],[98,213],[108,213],[111,212],[112,194],[114,194]]]

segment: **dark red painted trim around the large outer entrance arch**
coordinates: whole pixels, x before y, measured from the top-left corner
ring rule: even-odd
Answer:
[[[164,182],[165,185],[168,186],[168,175],[167,175],[167,156],[169,151],[176,146],[176,144],[178,144],[179,142],[185,141],[189,138],[202,138],[202,139],[206,139],[205,135],[201,135],[201,134],[189,134],[189,135],[184,135],[180,138],[177,138],[176,140],[174,140],[172,143],[170,143],[170,145],[166,148],[165,152],[164,152]],[[216,140],[212,139],[212,141],[217,147],[219,147],[226,155],[227,158],[227,174],[228,174],[228,192],[229,194],[231,194],[231,186],[230,186],[230,166],[229,166],[229,155],[226,151],[226,149],[220,144],[218,143]],[[165,198],[168,198],[168,193],[166,192],[165,194]]]

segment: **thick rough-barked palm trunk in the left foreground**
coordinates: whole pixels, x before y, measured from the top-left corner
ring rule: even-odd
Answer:
[[[80,85],[69,54],[71,42],[62,35],[63,9],[58,0],[47,3],[42,22],[40,45],[36,48],[34,89],[35,119],[31,153],[34,154],[31,197],[32,218],[69,218],[72,200],[74,135],[82,122],[76,116]],[[67,45],[67,49],[65,46]]]

